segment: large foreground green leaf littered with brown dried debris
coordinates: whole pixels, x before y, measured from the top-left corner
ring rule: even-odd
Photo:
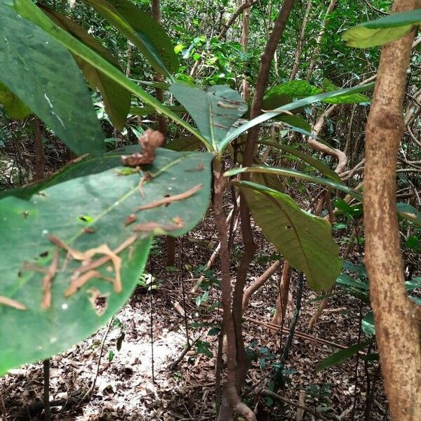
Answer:
[[[121,153],[138,149],[128,147]],[[145,267],[153,234],[168,230],[173,236],[184,234],[201,220],[210,197],[211,159],[212,155],[207,153],[158,149],[154,164],[144,168],[149,172],[142,186],[144,196],[140,194],[139,182],[145,173],[129,171],[128,175],[121,175],[120,154],[116,152],[85,159],[40,185],[2,195],[0,295],[20,302],[27,309],[0,305],[0,373],[64,351],[91,335],[128,300]],[[136,212],[140,205],[197,185],[201,188],[187,199]],[[135,213],[137,220],[126,226],[126,217],[131,213]],[[114,291],[112,283],[95,278],[66,298],[69,280],[74,269],[80,270],[81,262],[66,257],[65,250],[60,249],[52,305],[49,309],[41,308],[44,274],[25,270],[24,265],[25,262],[42,267],[51,265],[55,246],[49,236],[80,251],[102,244],[114,250],[133,236],[135,225],[147,222],[158,224],[152,225],[154,232],[138,232],[133,246],[119,253],[123,258],[121,293]],[[109,269],[112,265],[108,262],[97,270],[104,276],[115,276],[115,271]],[[107,308],[102,315],[95,312],[88,300],[91,288],[107,295]]]

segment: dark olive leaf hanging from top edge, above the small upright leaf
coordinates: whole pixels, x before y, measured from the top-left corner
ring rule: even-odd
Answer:
[[[145,55],[156,72],[178,72],[178,56],[171,39],[155,20],[128,0],[83,0],[90,4]]]

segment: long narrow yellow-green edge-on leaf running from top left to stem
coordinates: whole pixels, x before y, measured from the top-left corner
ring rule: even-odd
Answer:
[[[198,131],[196,131],[195,128],[190,126],[189,123],[168,109],[168,107],[161,104],[161,102],[156,100],[156,98],[154,98],[152,95],[149,95],[149,93],[140,88],[140,86],[131,81],[131,79],[128,79],[128,77],[122,74],[119,69],[116,69],[114,65],[107,62],[107,60],[102,58],[98,53],[91,50],[91,48],[88,48],[85,44],[74,38],[74,36],[70,35],[64,29],[52,22],[51,19],[49,19],[38,7],[36,7],[31,0],[15,0],[14,5],[15,9],[20,13],[20,15],[44,29],[44,31],[57,39],[74,55],[83,58],[83,60],[86,60],[86,62],[88,62],[91,66],[109,76],[120,86],[123,86],[123,88],[126,88],[127,91],[134,93],[141,100],[147,102],[149,105],[152,105],[152,107],[156,109],[156,112],[164,114],[168,116],[169,119],[172,119],[176,123],[180,124],[180,126],[184,127],[187,129],[187,131],[199,138],[209,150],[212,149],[212,146],[209,144],[208,140],[203,138],[203,136]]]

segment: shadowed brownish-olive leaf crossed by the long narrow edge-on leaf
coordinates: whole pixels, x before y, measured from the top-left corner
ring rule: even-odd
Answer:
[[[107,48],[102,46],[91,34],[88,34],[83,27],[57,11],[53,11],[51,8],[46,6],[40,7],[60,27],[75,36],[83,44],[92,48],[93,51],[96,51],[116,68],[120,68],[119,62],[109,53]],[[131,93],[110,79],[109,76],[91,66],[86,60],[79,58],[77,55],[75,55],[75,58],[91,86],[95,86],[100,91],[102,100],[104,100],[105,112],[109,115],[114,127],[121,131],[126,123],[127,114],[130,111]]]

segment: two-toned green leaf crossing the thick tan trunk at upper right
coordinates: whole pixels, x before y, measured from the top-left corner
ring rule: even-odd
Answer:
[[[413,29],[413,25],[420,24],[421,9],[393,13],[348,29],[342,34],[342,39],[349,47],[382,46],[405,36]]]

